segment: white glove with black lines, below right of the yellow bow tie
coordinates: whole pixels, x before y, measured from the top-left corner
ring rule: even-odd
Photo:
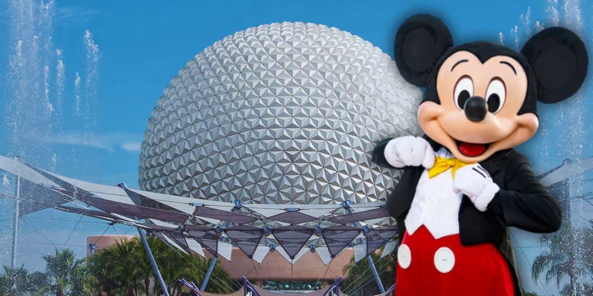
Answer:
[[[455,172],[453,191],[467,195],[474,207],[483,212],[500,188],[479,163],[473,163]]]

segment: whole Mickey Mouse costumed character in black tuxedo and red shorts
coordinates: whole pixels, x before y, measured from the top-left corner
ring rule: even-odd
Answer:
[[[547,28],[520,53],[488,42],[453,46],[431,15],[403,22],[396,64],[425,87],[423,137],[386,139],[372,159],[403,168],[387,208],[400,231],[396,294],[521,295],[509,226],[556,231],[560,207],[513,147],[537,130],[536,101],[573,95],[587,71],[581,39]]]

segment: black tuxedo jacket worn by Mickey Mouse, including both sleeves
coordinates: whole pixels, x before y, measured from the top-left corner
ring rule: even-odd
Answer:
[[[442,146],[424,137],[437,151]],[[372,153],[373,162],[380,166],[393,168],[384,156],[385,145],[391,139],[381,141]],[[515,291],[521,295],[515,256],[509,236],[509,226],[535,233],[549,233],[559,229],[562,212],[560,205],[546,187],[535,178],[525,156],[513,149],[496,152],[480,162],[493,181],[500,187],[485,212],[474,207],[467,196],[463,196],[459,210],[459,234],[461,243],[469,246],[479,243],[492,243],[500,250],[509,263],[515,278]],[[387,199],[387,210],[396,218],[399,237],[406,231],[404,219],[410,206],[416,185],[425,168],[410,166],[403,168],[400,182]]]

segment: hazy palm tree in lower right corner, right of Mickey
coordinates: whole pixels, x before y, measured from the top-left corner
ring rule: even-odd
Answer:
[[[541,244],[549,244],[549,250],[541,253],[531,266],[534,280],[544,276],[546,283],[552,279],[560,288],[563,279],[569,279],[568,288],[563,291],[578,292],[579,279],[582,276],[593,279],[593,229],[591,227],[573,227],[563,224],[559,231],[544,234]]]

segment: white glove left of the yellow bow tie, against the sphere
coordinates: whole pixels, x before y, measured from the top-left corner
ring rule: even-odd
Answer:
[[[385,145],[385,160],[395,168],[419,166],[430,169],[435,165],[435,151],[425,139],[403,136],[390,140]]]

